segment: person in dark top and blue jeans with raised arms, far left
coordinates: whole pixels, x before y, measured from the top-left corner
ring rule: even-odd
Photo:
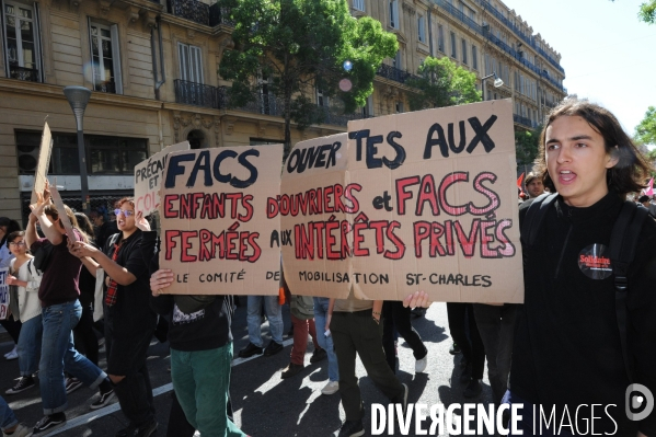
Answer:
[[[77,229],[77,220],[70,208],[65,211],[73,227],[77,240],[87,241],[87,237]],[[60,211],[49,203],[46,183],[44,193],[37,193],[37,204],[30,215],[25,241],[33,253],[47,250],[51,245],[47,266],[38,288],[42,301],[43,340],[39,363],[39,386],[45,416],[34,426],[33,436],[49,434],[66,425],[68,407],[64,369],[82,381],[92,390],[100,388],[100,399],[91,407],[100,409],[114,398],[114,390],[107,375],[76,350],[72,329],[78,324],[82,307],[78,297],[78,280],[82,262],[69,252],[68,235],[59,217]],[[38,239],[36,221],[46,235]]]

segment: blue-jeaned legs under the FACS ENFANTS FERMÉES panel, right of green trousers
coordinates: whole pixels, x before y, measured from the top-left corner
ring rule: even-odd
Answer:
[[[283,309],[278,296],[249,296],[246,323],[249,324],[249,345],[239,352],[241,358],[249,358],[263,353],[262,346],[262,304],[268,319],[272,341],[264,349],[271,356],[284,349],[283,346]]]

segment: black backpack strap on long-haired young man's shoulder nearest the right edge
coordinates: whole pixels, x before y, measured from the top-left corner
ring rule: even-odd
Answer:
[[[638,208],[633,202],[626,200],[622,205],[620,215],[615,220],[610,234],[609,257],[611,261],[613,283],[615,287],[615,315],[620,331],[620,343],[622,345],[622,357],[629,381],[634,381],[635,369],[633,360],[629,355],[628,344],[628,309],[626,292],[629,291],[629,266],[635,256],[637,239],[647,218],[646,208]]]

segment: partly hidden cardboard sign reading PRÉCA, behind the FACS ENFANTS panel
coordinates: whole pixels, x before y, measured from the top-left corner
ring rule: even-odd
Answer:
[[[160,152],[135,165],[135,212],[143,217],[157,211],[160,206],[160,185],[169,153],[189,150],[189,141],[168,146]]]

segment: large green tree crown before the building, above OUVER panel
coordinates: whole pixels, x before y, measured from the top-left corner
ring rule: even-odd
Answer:
[[[371,18],[354,19],[346,0],[219,0],[234,22],[234,48],[226,50],[219,74],[232,81],[232,107],[254,102],[263,92],[275,96],[285,117],[289,149],[290,122],[299,129],[321,123],[325,108],[314,103],[319,89],[337,96],[344,113],[366,104],[376,70],[398,50],[396,37]],[[345,61],[353,68],[344,68]],[[347,92],[338,88],[348,79]],[[260,81],[260,83],[258,83]],[[273,101],[273,100],[272,100]]]

